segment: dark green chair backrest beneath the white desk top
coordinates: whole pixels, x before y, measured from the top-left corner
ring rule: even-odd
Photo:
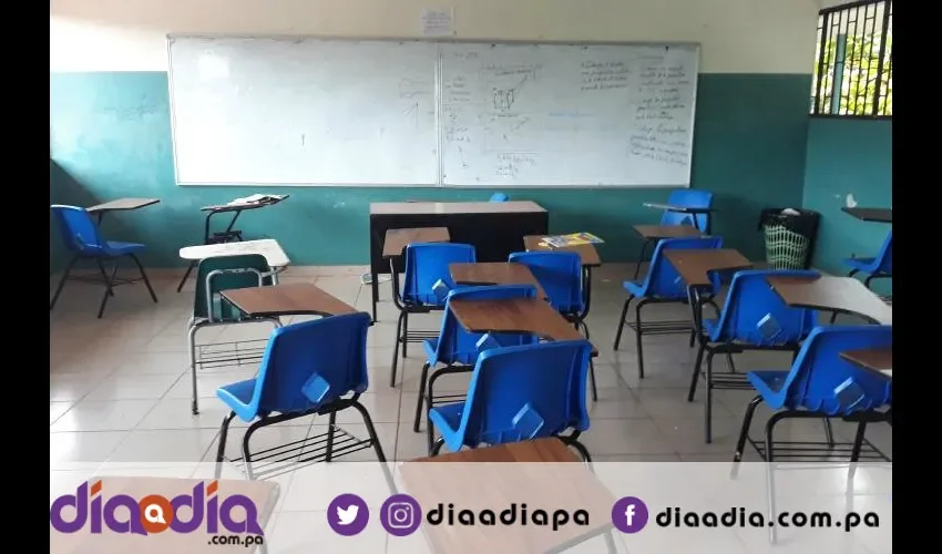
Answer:
[[[213,321],[231,321],[238,318],[238,310],[219,297],[223,290],[260,287],[272,285],[272,277],[259,274],[270,273],[265,256],[249,254],[244,256],[222,256],[206,258],[196,268],[196,295],[193,299],[193,317],[208,318]]]

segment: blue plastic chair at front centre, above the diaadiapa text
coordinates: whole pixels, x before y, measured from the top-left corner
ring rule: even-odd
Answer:
[[[586,340],[483,352],[464,402],[429,411],[429,425],[441,433],[429,454],[437,455],[442,445],[457,452],[461,447],[559,437],[588,461],[578,435],[588,429],[585,381],[591,352]],[[563,435],[569,429],[572,432]]]

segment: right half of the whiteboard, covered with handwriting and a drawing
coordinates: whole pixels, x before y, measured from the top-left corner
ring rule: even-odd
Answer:
[[[443,44],[448,185],[689,186],[695,45]]]

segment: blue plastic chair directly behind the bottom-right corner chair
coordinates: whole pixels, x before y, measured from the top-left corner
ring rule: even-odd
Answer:
[[[792,308],[785,304],[768,284],[769,277],[817,277],[818,271],[759,269],[738,271],[726,295],[726,304],[717,319],[700,319],[698,326],[699,350],[694,362],[690,378],[690,391],[687,401],[693,402],[697,391],[697,381],[706,352],[705,389],[705,438],[713,440],[713,391],[750,390],[746,376],[736,373],[733,355],[746,350],[782,350],[798,352],[800,342],[818,324],[818,312],[811,309]],[[726,355],[729,360],[728,373],[714,373],[713,357]],[[829,429],[829,428],[828,428]],[[829,439],[832,438],[828,431]]]

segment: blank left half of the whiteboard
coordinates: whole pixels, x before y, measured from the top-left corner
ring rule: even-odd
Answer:
[[[438,184],[437,44],[167,42],[177,183]]]

